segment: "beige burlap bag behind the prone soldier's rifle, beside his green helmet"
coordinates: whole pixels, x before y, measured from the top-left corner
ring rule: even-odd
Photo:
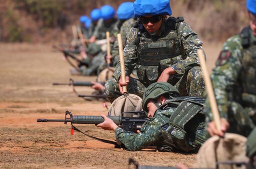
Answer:
[[[117,97],[110,105],[108,115],[118,116],[122,112],[142,110],[142,99],[135,94],[125,94]],[[124,116],[127,117],[125,114]],[[131,115],[132,116],[132,115]]]

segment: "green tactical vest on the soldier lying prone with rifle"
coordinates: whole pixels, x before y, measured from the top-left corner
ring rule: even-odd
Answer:
[[[195,131],[204,128],[203,106],[204,99],[201,97],[176,97],[164,102],[158,109],[176,107],[170,115],[169,122],[161,126],[164,141],[172,147],[186,152],[197,151],[205,141],[205,133],[195,139]],[[193,139],[193,140],[192,140]]]

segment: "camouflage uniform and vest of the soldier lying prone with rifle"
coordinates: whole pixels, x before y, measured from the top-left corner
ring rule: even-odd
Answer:
[[[132,151],[148,145],[167,145],[172,150],[197,151],[205,141],[204,99],[176,97],[164,102],[141,126],[139,133],[115,129],[115,135]]]

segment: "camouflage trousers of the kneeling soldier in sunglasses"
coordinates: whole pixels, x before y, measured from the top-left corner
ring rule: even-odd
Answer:
[[[151,83],[153,82],[155,81],[152,81]],[[173,81],[168,82],[174,85],[179,90],[181,96],[190,95],[203,97],[205,85],[199,66],[189,69],[180,78],[178,78],[174,84]],[[127,92],[136,94],[142,98],[143,93],[148,85],[143,84],[138,79],[130,78],[127,85]],[[105,93],[110,102],[113,102],[115,98],[122,95],[119,91],[118,82],[114,78],[110,78],[106,81]]]

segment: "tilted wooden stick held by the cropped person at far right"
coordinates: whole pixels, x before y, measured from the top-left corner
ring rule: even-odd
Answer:
[[[206,86],[206,91],[208,94],[208,98],[210,101],[210,108],[211,108],[211,112],[213,114],[213,120],[215,122],[216,128],[218,130],[218,132],[220,132],[220,117],[219,117],[219,112],[218,112],[218,108],[217,108],[217,103],[216,103],[216,99],[215,99],[215,95],[213,92],[213,88],[212,88],[212,84],[211,84],[211,80],[207,71],[207,67],[206,67],[206,63],[205,63],[205,59],[204,59],[204,54],[203,51],[201,49],[198,49],[197,51],[198,53],[198,57],[199,57],[199,61],[200,61],[200,65],[201,65],[201,69],[202,69],[202,74],[203,74],[203,80]]]

